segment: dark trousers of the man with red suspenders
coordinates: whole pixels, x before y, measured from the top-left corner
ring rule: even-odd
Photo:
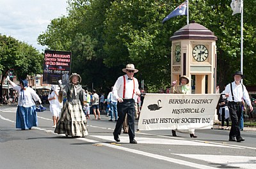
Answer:
[[[128,134],[130,140],[134,139],[134,99],[124,99],[124,102],[117,103],[117,112],[118,112],[118,119],[116,122],[116,128],[114,130],[114,135],[120,135],[122,131],[122,126],[125,120],[125,115],[127,114],[128,119]]]

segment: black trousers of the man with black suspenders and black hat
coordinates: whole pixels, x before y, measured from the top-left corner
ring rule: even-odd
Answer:
[[[234,138],[235,136],[236,138],[241,138],[240,130],[239,130],[239,122],[241,119],[242,105],[228,103],[228,110],[229,110],[230,119],[232,122],[229,138]]]

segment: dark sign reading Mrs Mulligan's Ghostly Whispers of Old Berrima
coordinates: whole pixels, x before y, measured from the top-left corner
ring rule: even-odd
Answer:
[[[45,50],[43,84],[56,84],[58,80],[68,83],[71,66],[71,52]]]

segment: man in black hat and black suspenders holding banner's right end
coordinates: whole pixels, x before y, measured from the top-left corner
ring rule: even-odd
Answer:
[[[241,84],[241,80],[243,78],[243,74],[241,73],[241,71],[236,71],[233,77],[234,82],[228,84],[225,90],[222,92],[227,97],[228,110],[232,122],[232,126],[229,132],[229,141],[243,142],[244,138],[241,137],[241,133],[239,130],[239,122],[242,114],[242,99],[246,101],[247,105],[250,107],[251,112],[253,110],[253,107],[246,87]]]

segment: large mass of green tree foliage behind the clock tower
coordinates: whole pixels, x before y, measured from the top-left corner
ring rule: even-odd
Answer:
[[[122,68],[134,63],[150,92],[170,85],[171,41],[186,25],[186,16],[166,15],[183,3],[164,0],[69,0],[68,16],[52,20],[38,36],[51,50],[71,50],[72,70],[83,75],[84,85],[111,87]],[[217,83],[224,87],[240,70],[241,14],[232,16],[230,0],[190,0],[189,20],[210,29],[218,37]],[[244,84],[255,85],[256,1],[244,1]]]

